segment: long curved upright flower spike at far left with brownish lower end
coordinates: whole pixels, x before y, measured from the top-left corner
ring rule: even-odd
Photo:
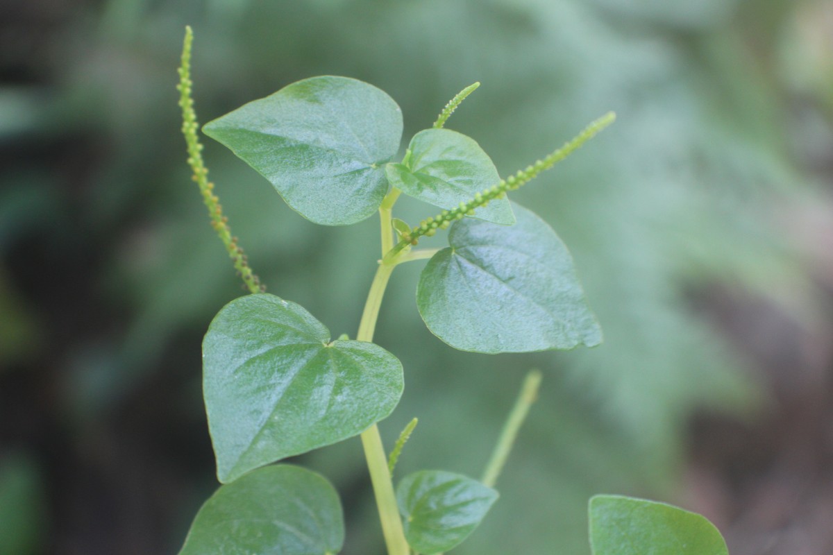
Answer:
[[[211,216],[211,226],[217,231],[217,236],[222,240],[222,244],[226,246],[237,274],[242,277],[247,290],[252,293],[261,293],[266,290],[266,286],[262,285],[257,275],[252,272],[252,268],[248,265],[247,256],[243,254],[242,247],[237,244],[237,237],[232,235],[232,230],[228,226],[228,218],[222,215],[220,199],[213,193],[214,184],[208,181],[208,169],[202,162],[202,144],[197,134],[199,124],[197,123],[197,113],[194,111],[194,101],[191,96],[193,84],[191,81],[191,43],[193,38],[191,27],[185,27],[185,41],[182,43],[182,65],[179,67],[179,84],[177,85],[177,90],[180,93],[179,107],[182,108],[182,135],[185,136],[188,150],[188,165],[191,166],[194,174],[192,179],[197,181],[197,186],[199,186],[202,194],[202,201],[208,209],[208,215]]]

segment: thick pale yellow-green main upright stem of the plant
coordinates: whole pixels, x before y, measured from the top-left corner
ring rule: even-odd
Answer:
[[[380,211],[382,215],[382,211]],[[390,208],[387,209],[387,234],[385,224],[382,223],[382,244],[384,237],[391,236]],[[382,215],[382,217],[384,217]],[[376,330],[376,321],[379,315],[379,308],[382,306],[382,296],[385,295],[387,281],[390,279],[396,264],[379,263],[379,269],[373,278],[370,292],[367,294],[362,321],[359,323],[359,331],[356,339],[359,341],[372,341],[373,332]],[[376,504],[379,509],[379,519],[382,521],[382,534],[385,537],[388,555],[409,555],[411,553],[405,539],[405,532],[402,529],[402,520],[399,518],[397,497],[393,492],[391,473],[387,468],[387,455],[382,446],[382,436],[379,435],[379,428],[373,424],[362,433],[362,446],[367,459],[367,469],[370,471],[370,479],[373,484],[373,493],[376,496]]]

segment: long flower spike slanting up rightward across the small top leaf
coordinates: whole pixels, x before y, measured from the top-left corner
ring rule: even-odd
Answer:
[[[542,171],[549,170],[556,163],[564,160],[572,151],[578,149],[586,141],[589,141],[595,136],[596,133],[609,126],[615,120],[616,114],[612,111],[607,112],[604,116],[593,121],[589,126],[586,126],[571,141],[567,141],[564,143],[564,146],[552,152],[551,155],[536,161],[531,166],[526,166],[525,170],[517,171],[514,176],[502,179],[500,183],[484,189],[468,201],[461,202],[460,206],[457,206],[453,210],[444,210],[436,216],[426,218],[420,222],[420,225],[416,225],[409,235],[403,235],[402,240],[393,247],[388,255],[396,255],[407,245],[416,245],[423,235],[431,237],[436,234],[436,230],[446,229],[451,225],[452,221],[461,220],[463,216],[473,216],[476,209],[486,206],[494,199],[503,198],[507,191],[515,191],[518,187],[526,185],[526,183],[535,179]]]

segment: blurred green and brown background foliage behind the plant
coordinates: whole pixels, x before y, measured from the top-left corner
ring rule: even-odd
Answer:
[[[499,503],[454,553],[586,555],[602,492],[706,513],[733,555],[833,553],[822,0],[2,2],[0,553],[177,553],[217,487],[200,341],[243,292],[185,164],[186,24],[203,122],[335,74],[396,99],[407,140],[480,81],[448,126],[505,176],[618,113],[513,197],[570,246],[600,348],[458,353],[416,313],[416,264],[382,306],[407,384],[382,435],[420,419],[400,475],[479,476],[526,369],[545,374]],[[375,217],[312,225],[206,142],[269,291],[354,335]],[[382,553],[358,440],[297,462],[342,493],[344,553]]]

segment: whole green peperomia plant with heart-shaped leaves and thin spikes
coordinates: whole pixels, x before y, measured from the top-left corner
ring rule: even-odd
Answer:
[[[402,140],[397,103],[347,77],[292,83],[204,126],[310,221],[349,225],[378,212],[381,256],[358,333],[355,339],[332,339],[302,306],[265,292],[232,236],[202,162],[191,44],[187,28],[179,90],[188,162],[212,226],[251,295],[223,307],[203,341],[203,393],[223,485],[197,513],[180,553],[340,552],[344,524],[335,488],[305,468],[272,463],[357,435],[387,553],[429,555],[454,548],[495,503],[496,479],[541,374],[528,374],[481,480],[422,470],[394,488],[393,469],[416,419],[388,454],[377,423],[396,408],[404,378],[397,357],[372,343],[387,282],[398,265],[427,260],[416,308],[428,329],[456,349],[522,353],[599,344],[601,329],[566,246],[507,193],[575,151],[614,115],[602,116],[506,179],[476,141],[444,127],[478,83],[412,137],[401,161],[394,161]],[[392,213],[403,193],[439,212],[408,225]],[[446,229],[447,247],[414,248]],[[597,497],[590,518],[595,555],[726,553],[704,518],[661,503]]]

